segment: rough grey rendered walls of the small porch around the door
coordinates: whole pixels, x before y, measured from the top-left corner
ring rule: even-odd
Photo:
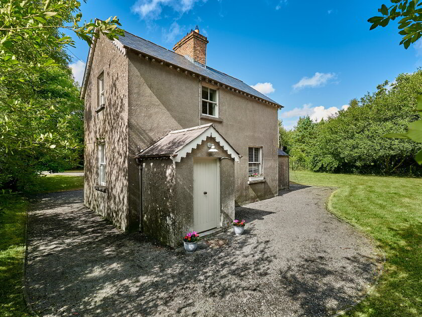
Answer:
[[[219,152],[208,152],[207,142],[214,142]],[[144,233],[176,247],[193,228],[193,157],[225,157],[220,161],[221,226],[235,217],[234,161],[212,138],[187,154],[180,162],[170,159],[144,161],[143,230]]]

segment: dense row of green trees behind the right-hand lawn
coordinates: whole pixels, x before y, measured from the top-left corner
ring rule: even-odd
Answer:
[[[387,138],[405,133],[420,120],[417,97],[422,94],[422,69],[400,74],[373,94],[350,101],[347,110],[328,120],[302,117],[292,130],[279,124],[280,147],[290,155],[293,170],[330,173],[422,176],[413,159],[422,149],[411,139]]]

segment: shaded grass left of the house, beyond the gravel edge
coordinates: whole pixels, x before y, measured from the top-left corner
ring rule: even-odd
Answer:
[[[83,188],[83,177],[48,176],[38,182],[40,192]],[[22,293],[25,223],[28,199],[0,195],[0,316],[29,315]]]

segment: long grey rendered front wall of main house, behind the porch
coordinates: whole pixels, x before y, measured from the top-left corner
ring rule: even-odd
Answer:
[[[129,213],[136,213],[138,185],[133,157],[172,130],[214,123],[243,155],[235,164],[236,205],[278,193],[277,108],[219,89],[220,118],[200,118],[200,81],[129,52]],[[262,146],[266,182],[248,185],[248,146]]]

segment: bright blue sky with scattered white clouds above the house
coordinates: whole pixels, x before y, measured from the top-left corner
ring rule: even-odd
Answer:
[[[207,65],[239,78],[284,108],[319,121],[347,109],[385,80],[422,66],[422,40],[405,50],[396,22],[369,31],[387,0],[87,0],[82,20],[118,16],[130,33],[172,49],[198,25],[208,38]],[[71,35],[71,34],[70,34]],[[88,45],[69,48],[81,82]]]

